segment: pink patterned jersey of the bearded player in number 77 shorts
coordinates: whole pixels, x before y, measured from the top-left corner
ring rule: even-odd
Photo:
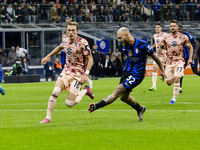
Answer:
[[[167,34],[160,43],[162,46],[166,46],[167,49],[167,65],[174,65],[180,61],[185,63],[183,55],[183,46],[190,46],[191,43],[188,37],[182,33],[173,35]]]

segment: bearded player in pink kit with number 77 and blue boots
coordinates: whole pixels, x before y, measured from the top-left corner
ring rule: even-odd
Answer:
[[[167,61],[165,68],[166,82],[170,86],[174,83],[173,97],[169,104],[174,104],[180,91],[180,78],[184,75],[185,59],[183,55],[183,46],[186,45],[189,49],[188,64],[192,63],[193,48],[188,37],[178,32],[178,21],[170,21],[170,31],[160,42],[160,49],[166,47]]]

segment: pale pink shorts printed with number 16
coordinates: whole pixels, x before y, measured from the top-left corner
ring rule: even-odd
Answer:
[[[70,93],[76,96],[79,94],[82,87],[82,84],[79,82],[80,80],[78,81],[74,77],[65,73],[61,73],[57,80],[62,80],[65,85],[65,89],[69,87]]]

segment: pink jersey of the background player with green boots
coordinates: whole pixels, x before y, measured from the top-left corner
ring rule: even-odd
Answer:
[[[155,45],[156,45],[156,52],[158,51],[158,49],[160,48],[160,41],[167,35],[167,33],[165,32],[161,32],[160,34],[154,34],[153,35],[153,38],[154,38],[154,41],[155,41]],[[162,53],[160,54],[160,57],[166,57],[166,54],[167,54],[167,50],[166,49],[163,49],[162,50]],[[156,55],[158,56],[158,54],[156,53]]]

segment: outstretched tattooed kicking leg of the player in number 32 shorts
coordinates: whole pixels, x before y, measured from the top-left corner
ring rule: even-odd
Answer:
[[[88,109],[89,112],[91,113],[99,108],[102,108],[108,104],[111,104],[118,97],[120,97],[125,91],[126,91],[125,87],[122,84],[120,84],[111,95],[107,96],[106,98],[101,100],[99,103],[96,103],[96,104],[91,103]]]

